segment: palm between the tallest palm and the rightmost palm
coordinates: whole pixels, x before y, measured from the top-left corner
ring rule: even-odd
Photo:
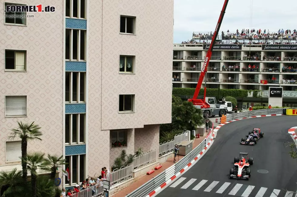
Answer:
[[[50,161],[45,158],[45,153],[42,152],[30,152],[22,160],[25,160],[27,163],[27,169],[31,174],[31,197],[36,197],[36,178],[38,177],[37,170],[50,171],[51,169],[48,167]]]

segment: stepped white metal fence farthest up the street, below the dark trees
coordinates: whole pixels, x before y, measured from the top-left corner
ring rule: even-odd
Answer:
[[[190,136],[190,131],[182,132],[174,136],[174,139],[159,144],[159,156],[170,153],[174,149],[174,145],[182,141],[187,141]]]

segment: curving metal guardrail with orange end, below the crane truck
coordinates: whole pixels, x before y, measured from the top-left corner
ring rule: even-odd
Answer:
[[[245,111],[234,114],[227,114],[220,118],[221,123],[225,123],[231,120],[239,119],[239,118],[248,118],[252,116],[260,116],[260,115],[272,115],[272,114],[283,114],[284,109],[286,108],[276,108],[276,109],[259,109],[253,111]]]

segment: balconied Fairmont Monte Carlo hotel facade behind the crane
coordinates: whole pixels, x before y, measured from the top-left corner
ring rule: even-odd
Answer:
[[[196,87],[208,48],[209,44],[173,44],[173,87]],[[297,45],[216,44],[205,80],[207,88],[296,90]]]

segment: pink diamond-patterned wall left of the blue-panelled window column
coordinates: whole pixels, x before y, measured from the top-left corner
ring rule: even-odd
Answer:
[[[11,2],[11,1],[9,1]],[[17,1],[20,2],[20,1]],[[40,1],[21,1],[39,5]],[[63,1],[48,5],[63,10]],[[17,121],[39,124],[42,143],[32,141],[28,150],[63,154],[63,12],[32,12],[27,27],[4,25],[4,1],[0,3],[0,165],[5,165],[5,141]],[[4,49],[27,50],[27,72],[4,71]],[[28,95],[28,117],[5,118],[4,95]],[[54,146],[53,146],[54,144]]]

